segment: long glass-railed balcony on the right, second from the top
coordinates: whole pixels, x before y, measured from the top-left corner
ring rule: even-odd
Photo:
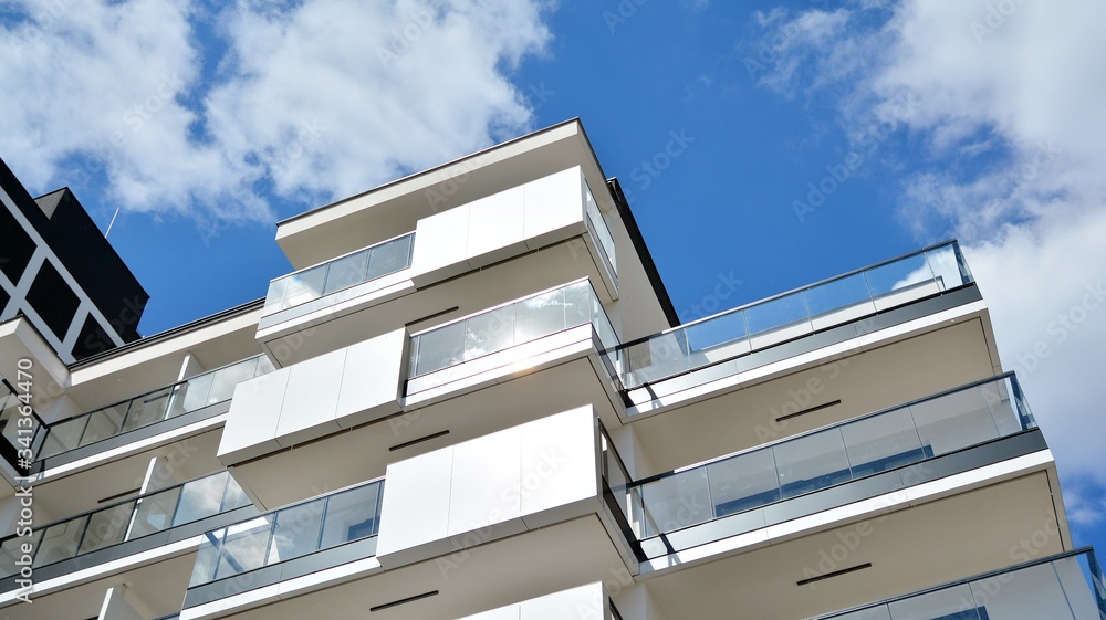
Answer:
[[[1043,450],[1013,374],[629,485],[645,558]]]

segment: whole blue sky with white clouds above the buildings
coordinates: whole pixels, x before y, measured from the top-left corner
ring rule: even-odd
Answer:
[[[279,219],[578,116],[685,320],[959,238],[1106,549],[1102,2],[365,4],[0,1],[0,155],[121,209],[143,333],[263,296]]]

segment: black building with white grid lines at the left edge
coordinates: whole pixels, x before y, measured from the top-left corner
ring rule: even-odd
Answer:
[[[23,217],[31,222],[34,230],[45,240],[46,245],[73,275],[92,303],[111,323],[112,329],[125,343],[138,339],[140,337],[138,319],[146,307],[146,302],[149,301],[149,294],[107,242],[73,192],[69,188],[62,188],[36,199],[32,198],[2,159],[0,159],[0,186],[11,197]],[[22,228],[19,227],[15,219],[6,209],[0,210],[0,218],[3,218],[0,221],[0,235],[2,235],[0,242],[3,243],[3,249],[0,252],[6,255],[0,256],[0,259],[8,258],[12,262],[11,267],[0,265],[0,269],[3,269],[4,273],[8,273],[8,269],[13,271],[18,269],[21,272],[25,267],[27,260],[30,259],[30,252],[33,252],[33,242],[28,251],[27,242],[31,240],[29,238],[27,240],[19,239]],[[8,219],[11,221],[9,222]],[[9,237],[12,238],[11,249],[9,249]],[[8,254],[10,256],[7,256]],[[22,259],[23,254],[27,259]],[[43,315],[42,309],[33,302],[31,303],[32,307],[40,315]],[[40,304],[44,303],[40,300]],[[69,318],[72,319],[72,316],[71,313]],[[43,315],[43,319],[49,323],[45,315]],[[79,358],[82,357],[79,353],[82,349],[88,349],[88,353],[103,350],[100,337],[106,336],[102,330],[97,334],[87,324],[84,327],[82,341],[77,343],[77,350],[73,351]],[[64,334],[56,333],[55,335],[64,336]],[[83,341],[85,336],[90,338],[88,343]],[[107,341],[111,341],[109,338]],[[111,346],[106,348],[111,348]]]

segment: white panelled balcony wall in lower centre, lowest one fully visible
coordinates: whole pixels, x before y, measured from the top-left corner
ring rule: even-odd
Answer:
[[[388,465],[376,556],[386,569],[594,513],[591,406]]]

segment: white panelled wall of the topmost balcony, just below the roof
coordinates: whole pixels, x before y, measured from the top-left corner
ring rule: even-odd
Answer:
[[[424,286],[583,233],[584,188],[576,166],[419,220],[411,281]]]

